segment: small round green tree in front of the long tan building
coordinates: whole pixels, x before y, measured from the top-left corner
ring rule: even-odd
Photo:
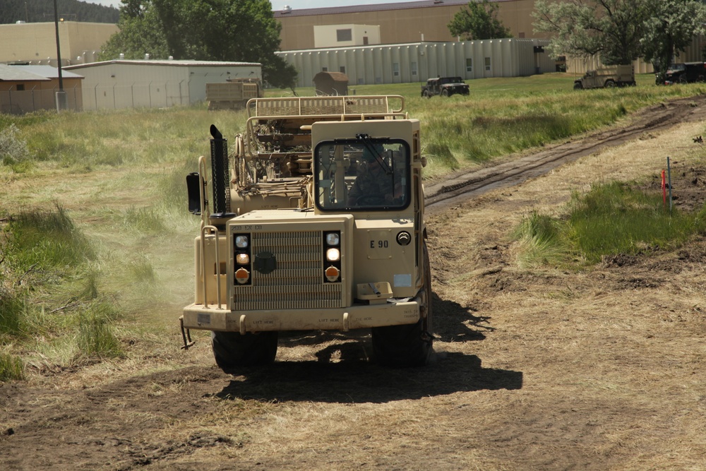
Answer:
[[[448,30],[468,41],[513,37],[497,16],[498,4],[491,4],[488,0],[469,1],[453,16]]]

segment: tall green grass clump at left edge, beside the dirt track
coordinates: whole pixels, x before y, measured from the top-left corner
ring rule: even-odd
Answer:
[[[37,339],[61,348],[73,338],[64,348],[75,353],[59,356],[82,361],[122,354],[118,311],[100,293],[97,251],[61,205],[9,216],[0,249],[0,346]],[[0,352],[0,381],[22,377],[22,359]]]

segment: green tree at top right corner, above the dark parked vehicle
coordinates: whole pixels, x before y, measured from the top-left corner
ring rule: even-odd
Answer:
[[[645,21],[642,51],[654,71],[663,76],[674,56],[703,33],[706,8],[700,1],[647,0],[652,16]]]

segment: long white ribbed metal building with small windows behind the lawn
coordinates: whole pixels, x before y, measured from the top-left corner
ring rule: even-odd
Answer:
[[[543,49],[547,44],[548,40],[510,38],[309,49],[277,55],[297,68],[299,87],[310,87],[321,71],[345,73],[350,85],[373,85],[424,82],[436,76],[472,79],[554,72],[556,61]]]

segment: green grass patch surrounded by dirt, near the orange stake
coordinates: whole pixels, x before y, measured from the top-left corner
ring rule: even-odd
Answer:
[[[604,256],[635,255],[647,248],[673,249],[706,231],[706,205],[696,213],[670,211],[662,197],[613,181],[587,194],[574,193],[566,220],[532,213],[515,229],[527,264],[568,263],[578,256],[596,263]]]

